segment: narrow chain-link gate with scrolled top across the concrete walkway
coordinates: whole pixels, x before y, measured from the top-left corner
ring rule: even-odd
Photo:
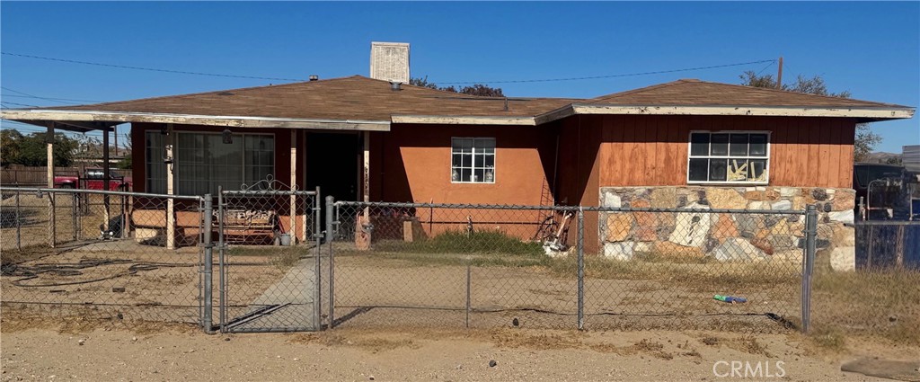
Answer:
[[[277,183],[220,191],[221,331],[322,326],[319,189],[278,191]]]

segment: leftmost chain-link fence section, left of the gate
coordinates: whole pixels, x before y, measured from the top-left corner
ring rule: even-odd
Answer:
[[[5,314],[201,322],[201,197],[0,193]]]

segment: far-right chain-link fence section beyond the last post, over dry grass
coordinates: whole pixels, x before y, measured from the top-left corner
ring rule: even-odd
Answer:
[[[855,244],[820,254],[830,261],[815,264],[812,327],[827,340],[846,333],[920,343],[920,223],[857,222]],[[844,254],[855,269],[834,270]]]

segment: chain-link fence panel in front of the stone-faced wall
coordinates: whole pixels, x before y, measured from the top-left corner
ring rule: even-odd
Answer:
[[[585,214],[601,235],[585,257],[586,327],[769,331],[801,317],[804,211]]]

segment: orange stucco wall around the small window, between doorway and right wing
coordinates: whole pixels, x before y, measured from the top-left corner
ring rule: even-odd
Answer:
[[[495,138],[495,183],[451,182],[452,137]],[[552,204],[555,139],[534,126],[393,125],[371,137],[371,200]]]

